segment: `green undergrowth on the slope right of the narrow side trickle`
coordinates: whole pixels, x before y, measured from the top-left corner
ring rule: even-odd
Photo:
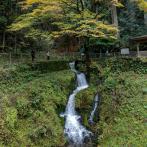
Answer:
[[[93,62],[99,71],[102,96],[99,146],[146,147],[147,64],[140,59]]]

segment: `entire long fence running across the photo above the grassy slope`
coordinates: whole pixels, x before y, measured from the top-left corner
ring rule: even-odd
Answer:
[[[147,53],[141,52],[141,56],[146,56]],[[128,55],[121,55],[119,52],[113,53],[90,53],[90,57],[94,60],[98,58],[108,58],[108,57],[136,57],[137,52],[130,52]],[[51,53],[50,60],[75,60],[82,59],[82,55],[79,52],[72,53]],[[0,67],[5,65],[20,64],[20,63],[31,63],[30,53],[0,53]],[[47,56],[45,52],[37,52],[35,55],[35,62],[47,61]]]

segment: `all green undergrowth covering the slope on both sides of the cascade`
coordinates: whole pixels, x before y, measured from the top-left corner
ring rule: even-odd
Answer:
[[[83,123],[100,147],[146,147],[147,66],[139,59],[92,62],[90,87],[76,98]],[[0,146],[65,146],[67,98],[74,86],[67,62],[14,66],[0,71]],[[100,121],[90,126],[93,96],[101,95]],[[98,120],[98,114],[95,120]]]

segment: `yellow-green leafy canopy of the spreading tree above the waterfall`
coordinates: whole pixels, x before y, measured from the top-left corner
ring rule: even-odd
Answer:
[[[39,6],[16,19],[10,27],[11,30],[25,29],[28,30],[26,34],[30,34],[33,30],[33,32],[46,34],[46,37],[52,36],[54,40],[66,35],[79,39],[85,37],[115,38],[116,29],[98,21],[95,18],[96,12],[93,12],[84,0],[56,0],[54,2],[46,0],[35,2],[34,0],[32,3],[27,2],[28,8],[34,3],[39,3]],[[46,31],[49,32],[46,33]]]

